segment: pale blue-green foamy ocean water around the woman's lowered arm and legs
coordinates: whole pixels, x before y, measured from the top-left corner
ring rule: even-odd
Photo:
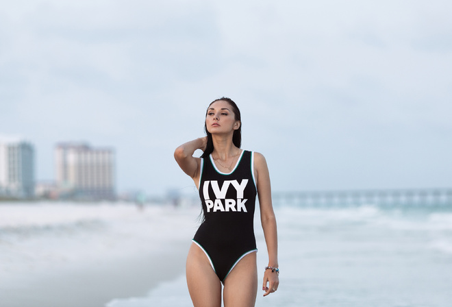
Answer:
[[[266,247],[256,212],[258,266]],[[256,306],[452,306],[452,208],[275,208],[280,286]],[[259,270],[259,283],[263,269]],[[184,275],[108,307],[192,306]]]

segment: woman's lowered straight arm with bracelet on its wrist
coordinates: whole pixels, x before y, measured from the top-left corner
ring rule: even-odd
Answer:
[[[260,204],[260,221],[264,230],[265,243],[268,251],[268,267],[278,267],[278,238],[276,228],[276,217],[271,201],[270,174],[264,156],[254,153],[254,169],[258,186],[258,197]],[[268,286],[267,286],[268,283]],[[266,291],[264,296],[275,292],[279,285],[276,271],[265,270],[264,284],[262,290]]]

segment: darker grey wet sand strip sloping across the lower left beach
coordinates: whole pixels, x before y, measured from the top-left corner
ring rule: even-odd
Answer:
[[[1,307],[101,307],[113,299],[141,297],[185,274],[190,242],[165,251],[71,265],[0,282]]]

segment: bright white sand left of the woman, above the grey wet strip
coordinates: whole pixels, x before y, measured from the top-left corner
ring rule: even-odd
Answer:
[[[141,255],[164,254],[169,244],[190,240],[196,214],[171,206],[2,203],[0,306],[10,307],[2,299],[9,289],[32,287],[42,277],[64,280],[66,273],[107,262],[121,265]]]

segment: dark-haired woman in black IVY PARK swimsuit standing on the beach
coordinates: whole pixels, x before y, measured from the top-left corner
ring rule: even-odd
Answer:
[[[203,223],[194,235],[186,263],[188,291],[195,307],[255,305],[258,288],[253,231],[255,197],[268,249],[264,296],[277,290],[277,228],[271,202],[270,175],[264,156],[240,149],[240,110],[229,98],[210,103],[207,136],[177,147],[179,167],[196,184]],[[193,157],[201,149],[201,158]]]

